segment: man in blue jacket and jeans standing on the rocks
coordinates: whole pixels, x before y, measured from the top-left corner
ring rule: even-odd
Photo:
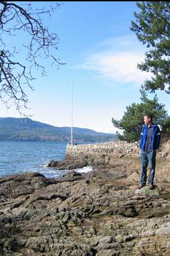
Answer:
[[[146,169],[148,162],[150,165],[150,174],[148,178],[149,188],[153,189],[154,173],[156,165],[156,151],[159,149],[161,141],[161,131],[157,124],[152,124],[152,116],[146,114],[144,116],[144,126],[140,134],[140,162],[142,165],[142,174],[140,177],[140,186],[138,189],[146,185]]]

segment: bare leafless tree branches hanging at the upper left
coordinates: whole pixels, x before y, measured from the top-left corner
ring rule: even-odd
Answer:
[[[19,2],[0,1],[0,100],[7,108],[11,107],[12,101],[20,113],[23,107],[27,108],[26,86],[33,90],[34,69],[40,69],[42,76],[47,74],[42,59],[51,59],[51,65],[56,63],[57,68],[65,64],[53,56],[58,49],[58,35],[50,33],[41,18],[44,14],[51,17],[61,3],[55,3],[49,9],[33,9],[32,5],[34,3],[19,5]],[[19,53],[16,47],[9,49],[4,40],[5,36],[18,36],[22,32],[26,34],[24,37],[28,36],[27,43],[21,43],[19,48],[20,51],[22,47],[27,50],[23,63],[16,60]]]

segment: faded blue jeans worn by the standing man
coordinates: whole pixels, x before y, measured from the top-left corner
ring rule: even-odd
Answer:
[[[142,165],[142,174],[140,177],[140,184],[146,184],[146,170],[148,167],[148,163],[150,165],[150,174],[148,182],[153,184],[154,181],[154,173],[156,166],[156,151],[140,151],[140,162]]]

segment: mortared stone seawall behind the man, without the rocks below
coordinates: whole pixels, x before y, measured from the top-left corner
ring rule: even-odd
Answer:
[[[125,141],[112,141],[108,143],[94,143],[86,145],[67,145],[66,159],[98,158],[102,156],[125,156],[139,155],[139,143],[127,143]]]

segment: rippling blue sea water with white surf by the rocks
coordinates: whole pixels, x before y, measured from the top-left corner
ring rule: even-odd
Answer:
[[[0,177],[39,172],[47,178],[59,178],[67,170],[47,168],[52,159],[65,157],[67,143],[44,141],[0,141]],[[92,168],[82,168],[76,172],[89,172]]]

